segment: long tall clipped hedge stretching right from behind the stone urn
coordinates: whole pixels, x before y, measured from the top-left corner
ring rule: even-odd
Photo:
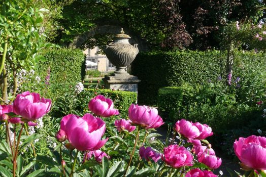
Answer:
[[[263,58],[254,52],[236,52],[235,67],[245,60]],[[225,77],[226,54],[220,51],[176,51],[139,53],[131,64],[131,74],[138,76],[138,103],[157,104],[158,90],[164,86],[179,86],[184,82],[201,83]],[[235,73],[236,74],[236,73]]]

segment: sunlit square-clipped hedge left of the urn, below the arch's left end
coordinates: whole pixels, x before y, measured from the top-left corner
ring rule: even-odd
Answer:
[[[42,51],[42,55],[47,59],[37,67],[42,80],[45,80],[50,69],[50,84],[81,81],[82,63],[85,60],[81,50],[49,49]]]

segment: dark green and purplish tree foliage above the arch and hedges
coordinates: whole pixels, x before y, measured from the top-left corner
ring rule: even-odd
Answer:
[[[164,49],[219,49],[219,33],[231,21],[265,17],[262,0],[76,0],[65,6],[56,42],[68,45],[74,36],[99,24],[119,24]],[[101,35],[90,40],[98,45]]]

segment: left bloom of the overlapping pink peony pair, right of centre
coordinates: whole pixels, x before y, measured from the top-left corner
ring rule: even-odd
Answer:
[[[200,130],[192,122],[185,119],[178,120],[174,129],[188,139],[197,138],[201,134]]]

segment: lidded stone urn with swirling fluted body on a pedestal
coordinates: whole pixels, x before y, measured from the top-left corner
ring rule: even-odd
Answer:
[[[126,74],[126,66],[130,65],[139,53],[138,45],[130,45],[129,38],[131,37],[125,34],[122,28],[121,33],[115,35],[114,42],[104,50],[109,61],[115,65],[117,74]]]

